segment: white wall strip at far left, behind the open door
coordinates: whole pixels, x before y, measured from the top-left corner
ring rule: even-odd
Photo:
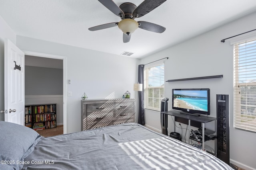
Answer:
[[[4,110],[4,40],[7,38],[16,44],[16,34],[0,16],[0,110]],[[0,120],[4,121],[4,113],[0,113]]]

